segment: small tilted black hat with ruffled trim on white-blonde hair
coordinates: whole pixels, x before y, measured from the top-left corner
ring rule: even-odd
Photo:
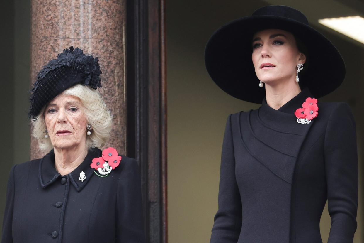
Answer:
[[[85,55],[80,48],[64,49],[56,59],[38,72],[31,89],[29,118],[39,115],[41,109],[64,90],[77,85],[101,87],[99,59]]]

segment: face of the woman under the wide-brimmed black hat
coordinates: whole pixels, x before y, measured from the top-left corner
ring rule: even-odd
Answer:
[[[279,81],[294,82],[297,64],[306,57],[298,51],[294,36],[287,31],[262,30],[253,36],[252,60],[258,79],[274,85]]]

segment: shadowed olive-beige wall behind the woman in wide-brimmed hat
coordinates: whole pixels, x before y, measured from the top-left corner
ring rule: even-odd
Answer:
[[[205,44],[214,30],[267,5],[262,1],[244,3],[246,1],[174,0],[167,5],[168,237],[171,243],[209,241],[217,211],[221,145],[227,115],[258,108],[220,90],[211,81],[203,62]],[[312,9],[315,3],[305,1]],[[324,11],[323,8],[318,11]],[[351,105],[357,121],[360,151],[364,130],[360,111],[364,105],[360,93],[364,45],[353,45],[338,35],[320,31],[339,48],[347,64],[344,84],[321,101],[345,101]],[[325,64],[329,64],[329,60]],[[359,163],[359,192],[362,192],[361,159]],[[355,235],[358,243],[364,241],[361,198],[362,194]],[[325,208],[321,220],[324,242],[327,242],[329,228],[330,217]]]

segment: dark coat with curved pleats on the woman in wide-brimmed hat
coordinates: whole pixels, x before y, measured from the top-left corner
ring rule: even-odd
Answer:
[[[326,200],[329,243],[352,243],[357,227],[356,127],[345,103],[318,102],[299,124],[308,89],[278,110],[232,114],[222,145],[218,211],[210,243],[321,243]]]

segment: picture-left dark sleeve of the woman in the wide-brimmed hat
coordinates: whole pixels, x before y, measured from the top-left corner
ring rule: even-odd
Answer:
[[[210,243],[236,243],[242,220],[241,198],[235,177],[231,115],[227,119],[221,152],[218,211]]]

